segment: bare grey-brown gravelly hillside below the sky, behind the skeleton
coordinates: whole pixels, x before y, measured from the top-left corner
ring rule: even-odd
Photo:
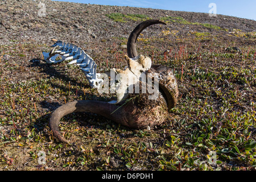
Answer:
[[[225,28],[232,32],[233,28],[243,32],[256,30],[254,20],[218,15],[210,17],[204,13],[187,13],[158,9],[141,9],[135,7],[101,6],[82,3],[57,1],[41,1],[46,7],[46,16],[39,16],[43,6],[39,1],[0,2],[0,44],[33,40],[37,43],[51,44],[51,39],[78,43],[80,46],[98,42],[102,39],[110,41],[113,37],[128,38],[130,31],[143,18],[127,19],[125,23],[113,21],[108,14],[137,14],[151,19],[180,17],[193,23],[208,23]],[[193,31],[191,24],[170,23],[170,30],[179,30],[179,34]],[[200,27],[200,31],[208,28]],[[210,31],[210,30],[209,30]]]

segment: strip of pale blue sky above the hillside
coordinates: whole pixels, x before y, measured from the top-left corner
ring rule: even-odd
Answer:
[[[154,9],[193,11],[208,13],[210,3],[216,4],[216,13],[256,20],[256,0],[58,0],[68,2],[90,3],[97,5],[116,5],[133,7],[150,7]]]

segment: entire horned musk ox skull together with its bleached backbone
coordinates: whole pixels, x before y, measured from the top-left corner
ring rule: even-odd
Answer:
[[[127,42],[126,69],[113,68],[108,72],[110,77],[112,74],[114,75],[112,84],[116,88],[117,100],[110,102],[96,100],[73,101],[53,111],[49,119],[49,126],[57,139],[61,142],[69,143],[60,134],[59,121],[65,115],[74,112],[100,114],[116,123],[134,129],[145,129],[160,125],[166,120],[169,115],[168,110],[172,109],[177,103],[178,90],[174,73],[162,65],[151,65],[150,57],[138,55],[136,50],[136,41],[139,34],[144,28],[158,23],[165,24],[160,20],[146,20],[138,24],[131,32]],[[100,89],[105,81],[102,77],[108,78],[106,73],[96,73],[96,63],[81,48],[61,41],[56,42],[52,47],[54,48],[51,52],[43,52],[47,63],[72,60],[69,64],[76,63],[79,65],[93,88]],[[61,56],[61,60],[56,60],[58,56]],[[133,81],[127,82],[127,78]],[[154,86],[152,86],[152,80],[154,80]],[[130,87],[136,85],[139,86],[139,92],[128,92]],[[152,88],[157,90],[158,94],[157,97],[151,97],[150,99],[150,96],[152,96],[150,90],[152,91]]]

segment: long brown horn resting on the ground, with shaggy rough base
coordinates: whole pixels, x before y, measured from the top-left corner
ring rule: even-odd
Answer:
[[[136,94],[135,94],[136,95]],[[148,110],[151,110],[150,112]],[[57,108],[49,119],[53,135],[61,142],[70,143],[60,134],[59,122],[62,117],[75,112],[90,112],[102,115],[123,126],[134,129],[145,129],[159,125],[168,117],[167,106],[162,98],[148,100],[147,94],[131,97],[122,106],[102,101],[73,101]]]

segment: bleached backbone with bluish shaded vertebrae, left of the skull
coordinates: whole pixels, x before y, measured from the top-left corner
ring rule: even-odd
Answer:
[[[60,63],[66,60],[72,60],[68,64],[76,63],[84,72],[87,80],[92,88],[100,88],[103,80],[99,73],[96,73],[97,64],[93,61],[92,57],[87,55],[84,50],[73,44],[64,43],[58,40],[53,44],[51,52],[43,52],[44,60],[47,63]],[[57,57],[61,57],[60,60],[56,60]]]

